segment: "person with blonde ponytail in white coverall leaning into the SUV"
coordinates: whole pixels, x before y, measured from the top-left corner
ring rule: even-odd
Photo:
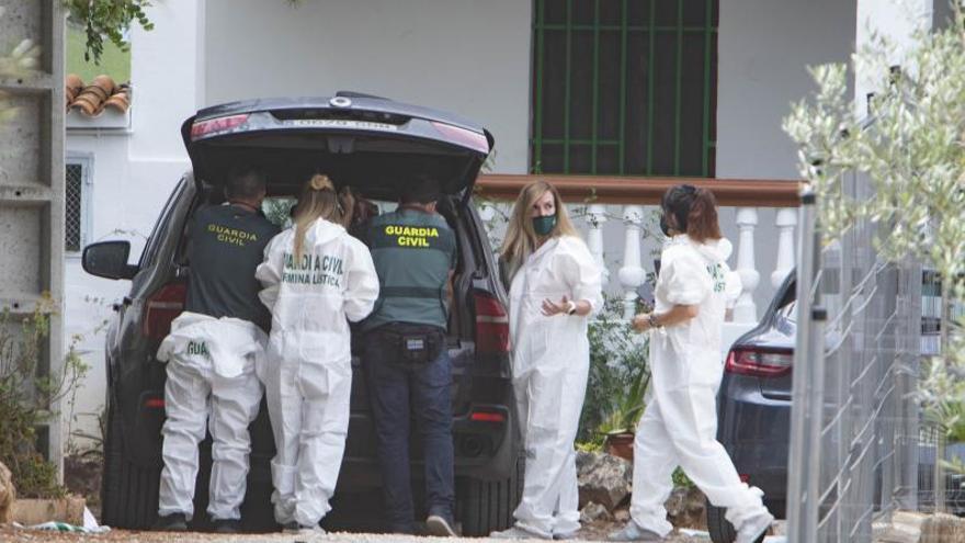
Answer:
[[[272,313],[259,372],[277,449],[272,502],[288,532],[321,531],[331,509],[349,430],[349,321],[365,318],[378,297],[368,248],[342,226],[352,207],[348,191],[339,195],[328,177],[314,176],[294,225],[271,240],[256,274]]]

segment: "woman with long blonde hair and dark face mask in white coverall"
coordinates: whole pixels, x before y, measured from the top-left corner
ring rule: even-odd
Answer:
[[[559,193],[542,181],[515,202],[502,262],[526,472],[515,524],[491,536],[570,538],[580,529],[574,441],[590,369],[587,321],[603,303],[602,273]]]

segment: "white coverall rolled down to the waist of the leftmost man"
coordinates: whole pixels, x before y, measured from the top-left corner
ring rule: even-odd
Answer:
[[[254,324],[184,312],[158,349],[167,362],[167,420],[161,456],[164,467],[158,513],[194,514],[197,444],[211,431],[212,475],[207,512],[213,519],[239,519],[248,477],[251,438],[258,416],[261,363],[268,336]]]

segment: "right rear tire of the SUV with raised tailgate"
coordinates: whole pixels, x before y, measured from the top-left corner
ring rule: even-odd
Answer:
[[[519,455],[515,470],[506,479],[464,479],[459,507],[463,535],[483,538],[512,525],[512,513],[523,496],[524,471],[524,459]]]

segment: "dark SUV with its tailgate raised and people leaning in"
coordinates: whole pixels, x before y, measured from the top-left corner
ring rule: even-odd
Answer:
[[[384,202],[397,200],[406,191],[405,180],[418,173],[443,180],[439,210],[456,233],[459,257],[449,323],[456,517],[467,535],[508,527],[519,502],[522,462],[511,408],[506,293],[472,197],[492,136],[446,113],[348,92],[331,99],[252,100],[207,108],[185,121],[181,132],[192,171],[164,205],[138,264],[127,263],[126,241],[84,249],[88,273],[132,281],[106,335],[102,521],[146,528],[156,519],[166,373],[155,354],[183,308],[191,265],[185,227],[200,206],[223,201],[226,171],[243,161],[266,170],[269,203],[293,202],[304,181],[318,171],[356,194]],[[365,373],[354,357],[353,370],[351,422],[333,513],[340,498],[372,493],[379,485]],[[251,432],[242,520],[249,530],[272,530],[276,527],[269,506],[269,461],[274,443],[264,404]],[[420,474],[418,439],[412,448],[413,463],[420,464],[412,473]],[[208,438],[202,444],[195,493],[197,529],[205,528],[209,470]],[[418,493],[420,485],[415,487]]]

